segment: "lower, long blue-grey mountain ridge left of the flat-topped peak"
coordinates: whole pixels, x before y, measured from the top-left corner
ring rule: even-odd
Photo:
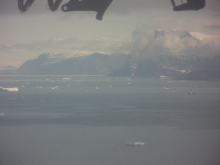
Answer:
[[[124,54],[94,53],[91,55],[71,55],[44,53],[37,59],[25,62],[17,70],[18,74],[30,75],[106,75],[123,65]]]

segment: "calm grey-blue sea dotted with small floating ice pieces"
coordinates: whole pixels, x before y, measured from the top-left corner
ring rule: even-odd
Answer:
[[[220,164],[220,82],[0,76],[0,86],[19,89],[0,92],[0,165]]]

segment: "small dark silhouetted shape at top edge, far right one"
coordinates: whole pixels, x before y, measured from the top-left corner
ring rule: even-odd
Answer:
[[[174,11],[200,10],[205,7],[205,0],[187,0],[187,3],[178,6],[176,6],[174,0],[171,0],[171,3]]]

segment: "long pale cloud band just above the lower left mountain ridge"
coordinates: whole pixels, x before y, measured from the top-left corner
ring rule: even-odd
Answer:
[[[102,51],[106,53],[128,53],[131,51],[132,43],[129,40],[101,37],[91,40],[79,40],[77,38],[50,38],[47,41],[34,42],[29,44],[15,44],[12,46],[0,45],[0,50],[28,50],[28,51]]]

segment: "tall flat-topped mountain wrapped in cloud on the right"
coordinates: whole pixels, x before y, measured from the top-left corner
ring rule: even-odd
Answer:
[[[131,54],[125,65],[110,75],[193,79],[186,75],[203,71],[209,75],[215,72],[213,79],[216,79],[216,72],[220,71],[220,49],[213,51],[210,45],[207,40],[203,42],[184,30],[157,29],[155,38],[139,52],[139,56]],[[194,74],[194,79],[212,79],[212,76],[199,75]]]

